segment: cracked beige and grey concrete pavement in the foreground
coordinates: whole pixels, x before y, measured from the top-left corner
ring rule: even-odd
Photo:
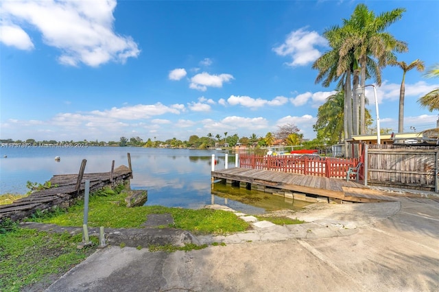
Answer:
[[[222,208],[214,206],[213,208]],[[313,204],[191,252],[107,247],[46,291],[439,291],[439,200]]]

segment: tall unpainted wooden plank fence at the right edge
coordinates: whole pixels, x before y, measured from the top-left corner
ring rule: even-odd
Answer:
[[[366,145],[365,184],[438,191],[438,147]]]

